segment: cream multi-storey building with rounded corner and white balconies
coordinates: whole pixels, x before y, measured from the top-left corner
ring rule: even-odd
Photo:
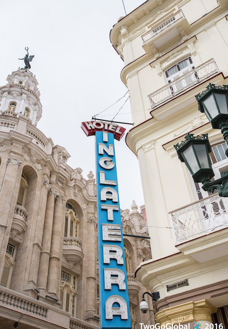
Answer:
[[[228,328],[228,201],[194,184],[173,147],[187,132],[207,133],[215,179],[228,169],[221,131],[195,99],[209,83],[228,84],[227,31],[227,0],[147,0],[110,32],[124,60],[134,122],[126,143],[139,159],[151,237],[152,259],[136,278],[160,292],[160,324]]]

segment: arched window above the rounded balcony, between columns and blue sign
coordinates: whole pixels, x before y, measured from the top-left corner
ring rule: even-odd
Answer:
[[[78,215],[70,203],[66,203],[64,236],[79,236]]]

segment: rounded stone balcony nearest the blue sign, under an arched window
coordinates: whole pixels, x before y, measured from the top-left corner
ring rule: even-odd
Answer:
[[[76,263],[83,260],[82,240],[73,236],[64,237],[62,254],[65,256],[69,268],[72,269]]]

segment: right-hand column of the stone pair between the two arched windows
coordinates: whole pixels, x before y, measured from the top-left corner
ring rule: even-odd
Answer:
[[[63,239],[63,198],[57,195],[54,210],[54,220],[51,239],[51,255],[49,260],[49,271],[47,279],[47,291],[56,298],[59,291],[59,272],[61,268],[62,239]]]

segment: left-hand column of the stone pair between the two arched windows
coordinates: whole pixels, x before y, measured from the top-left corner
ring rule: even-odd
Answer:
[[[47,289],[48,266],[51,249],[52,224],[54,216],[55,194],[51,188],[48,191],[46,213],[43,227],[42,251],[38,271],[37,285],[39,290]]]

